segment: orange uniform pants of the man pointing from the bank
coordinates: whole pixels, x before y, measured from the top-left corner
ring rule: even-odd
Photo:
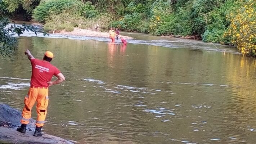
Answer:
[[[31,118],[31,109],[36,104],[37,120],[36,126],[44,126],[45,117],[47,113],[47,107],[49,103],[48,87],[30,87],[28,94],[25,96],[25,107],[22,111],[21,123],[28,124]]]

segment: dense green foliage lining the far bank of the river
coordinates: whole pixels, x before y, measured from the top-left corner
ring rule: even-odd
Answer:
[[[46,30],[72,31],[74,27],[93,28],[99,24],[101,28],[152,35],[195,36],[204,42],[235,45],[241,53],[255,56],[251,49],[255,45],[253,1],[4,0],[4,4],[9,12],[17,9],[17,5],[28,12],[34,9],[33,18],[45,23]]]

